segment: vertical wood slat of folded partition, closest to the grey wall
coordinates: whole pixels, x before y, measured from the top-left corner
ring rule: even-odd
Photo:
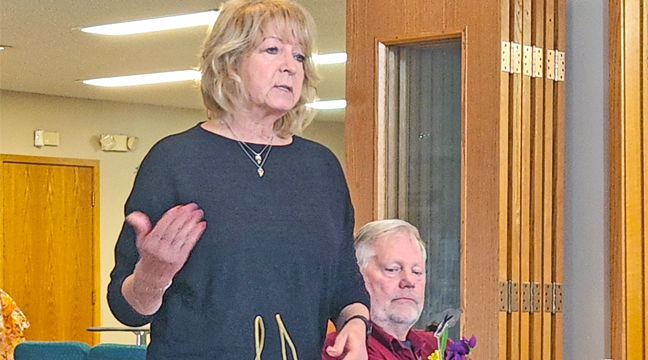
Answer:
[[[556,0],[556,50],[566,51],[566,0]],[[554,282],[563,284],[563,221],[564,221],[564,177],[565,177],[565,81],[558,81],[554,88],[554,199],[553,199],[553,239]],[[564,287],[563,287],[564,289]],[[553,328],[554,359],[563,355],[563,313],[554,315]]]

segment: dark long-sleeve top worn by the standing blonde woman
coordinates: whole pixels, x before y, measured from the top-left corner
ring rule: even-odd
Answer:
[[[264,170],[259,177],[236,141],[199,125],[161,140],[143,160],[126,214],[142,211],[155,224],[171,207],[194,202],[207,222],[152,316],[135,312],[121,293],[138,260],[134,232],[122,228],[108,303],[126,325],[151,323],[148,360],[253,359],[257,315],[265,323],[262,358],[281,359],[275,314],[299,358],[317,359],[327,319],[351,303],[368,306],[335,156],[294,136],[272,147]]]

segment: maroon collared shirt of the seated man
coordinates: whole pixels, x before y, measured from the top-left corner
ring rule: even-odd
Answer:
[[[367,340],[369,360],[427,360],[428,356],[436,350],[437,339],[432,332],[423,330],[410,330],[407,341],[412,344],[410,349],[395,337],[386,333],[378,325],[372,323],[373,329]],[[326,353],[326,347],[335,343],[336,333],[330,333],[324,342],[322,360],[334,360]]]

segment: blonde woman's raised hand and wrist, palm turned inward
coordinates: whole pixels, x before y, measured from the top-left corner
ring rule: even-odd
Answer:
[[[151,228],[146,214],[135,211],[126,217],[133,227],[139,252],[135,275],[140,284],[165,288],[189,258],[205,231],[204,213],[198,205],[177,205]]]

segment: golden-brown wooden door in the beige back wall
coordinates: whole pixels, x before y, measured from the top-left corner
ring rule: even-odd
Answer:
[[[98,161],[0,157],[2,288],[28,340],[90,345],[99,324]]]

